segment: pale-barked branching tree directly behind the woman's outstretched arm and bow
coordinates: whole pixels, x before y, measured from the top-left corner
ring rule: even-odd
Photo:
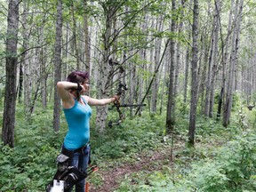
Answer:
[[[136,52],[139,52],[138,50],[141,49],[141,43],[140,45],[137,45],[138,43],[135,42],[134,46],[133,44],[129,44],[129,46],[125,47],[125,44],[123,42],[123,45],[119,44],[118,49],[115,49],[115,44],[117,41],[117,38],[120,36],[136,36],[129,35],[128,34],[122,34],[124,33],[125,28],[130,27],[130,31],[134,29],[136,24],[136,16],[140,14],[146,7],[148,7],[149,4],[152,4],[153,1],[148,2],[148,4],[140,4],[140,2],[132,2],[134,4],[131,4],[131,2],[126,0],[119,0],[119,1],[100,1],[100,6],[103,10],[104,20],[103,25],[104,29],[102,30],[101,37],[101,57],[100,57],[100,71],[98,78],[100,79],[97,83],[97,87],[99,89],[98,97],[100,98],[107,98],[110,94],[110,88],[112,85],[113,77],[116,75],[115,71],[118,70],[118,68],[122,67],[122,65],[116,65],[117,69],[112,69],[111,64],[109,64],[109,60],[111,59],[111,56],[115,55],[116,52],[121,51],[120,47],[123,47],[127,50],[132,50],[133,52],[137,49]],[[138,4],[137,4],[138,3]],[[129,4],[134,9],[131,8],[131,10],[125,12],[125,6]],[[118,23],[118,28],[116,29],[115,26],[115,20],[120,19],[120,22]],[[132,29],[131,29],[132,28]],[[129,31],[129,32],[130,32]],[[138,41],[138,39],[137,39]],[[118,42],[119,43],[119,42]],[[137,43],[137,44],[136,44]],[[136,47],[138,46],[138,47]],[[135,53],[131,54],[134,55]],[[115,58],[114,58],[115,59]],[[123,62],[124,64],[124,62]],[[108,107],[102,106],[97,108],[97,116],[96,116],[96,126],[100,130],[100,132],[103,132],[106,127],[106,119],[108,115]]]

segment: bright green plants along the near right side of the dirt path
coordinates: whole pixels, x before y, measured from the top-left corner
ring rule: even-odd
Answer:
[[[241,132],[226,145],[209,149],[207,153],[200,148],[184,150],[174,163],[174,171],[164,167],[163,171],[137,172],[117,191],[255,191],[254,132]]]

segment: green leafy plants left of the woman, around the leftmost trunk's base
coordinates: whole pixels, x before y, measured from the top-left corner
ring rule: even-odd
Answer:
[[[63,135],[54,133],[49,126],[52,124],[49,124],[49,113],[38,112],[27,124],[19,117],[23,116],[20,109],[17,108],[15,148],[0,145],[0,188],[1,191],[44,191],[56,172],[55,158]]]

